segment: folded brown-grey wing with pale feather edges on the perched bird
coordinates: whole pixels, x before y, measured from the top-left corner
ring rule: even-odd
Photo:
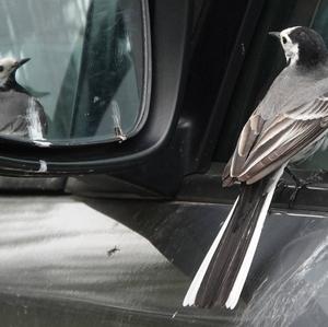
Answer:
[[[223,179],[257,182],[320,138],[327,127],[326,96],[280,114],[270,122],[254,114],[241,133]]]

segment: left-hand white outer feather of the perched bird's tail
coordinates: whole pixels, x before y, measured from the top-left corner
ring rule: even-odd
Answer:
[[[231,209],[227,218],[225,219],[222,227],[220,229],[218,236],[215,237],[215,240],[214,240],[213,244],[211,245],[208,254],[206,255],[202,264],[200,265],[200,267],[199,267],[196,276],[194,277],[194,280],[192,280],[192,282],[191,282],[191,284],[189,287],[189,290],[188,290],[188,292],[187,292],[187,294],[185,296],[185,300],[184,300],[184,303],[183,303],[184,306],[195,305],[195,300],[196,300],[198,290],[199,290],[199,288],[201,285],[201,281],[202,281],[202,279],[203,279],[203,277],[204,277],[204,275],[206,275],[206,272],[208,270],[208,267],[209,267],[209,265],[211,262],[211,259],[212,259],[212,257],[213,257],[213,255],[215,253],[215,249],[216,249],[216,247],[220,244],[220,241],[221,241],[221,238],[223,236],[223,233],[225,232],[226,226],[227,226],[227,224],[229,224],[229,222],[230,222],[230,220],[232,218],[232,214],[233,214],[233,212],[234,212],[234,210],[236,208],[238,199],[239,199],[239,197],[236,199],[233,208]]]

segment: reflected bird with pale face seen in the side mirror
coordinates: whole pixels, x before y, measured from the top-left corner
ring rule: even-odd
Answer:
[[[47,117],[43,105],[16,81],[19,68],[30,58],[0,58],[0,135],[44,140]]]

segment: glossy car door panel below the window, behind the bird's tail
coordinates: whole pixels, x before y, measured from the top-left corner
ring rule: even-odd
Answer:
[[[181,307],[230,206],[71,197],[0,203],[5,326],[325,326],[324,212],[272,211],[230,312]]]

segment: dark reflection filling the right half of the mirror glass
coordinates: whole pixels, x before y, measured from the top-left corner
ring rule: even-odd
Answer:
[[[72,69],[67,74],[54,117],[55,124],[61,121],[60,129],[66,138],[122,141],[136,127],[141,115],[142,92],[142,73],[138,71],[142,70],[143,52],[140,17],[139,1],[91,2],[80,73]],[[74,62],[72,58],[71,68]],[[74,100],[70,97],[73,75],[78,78]],[[73,110],[66,105],[65,98]]]

